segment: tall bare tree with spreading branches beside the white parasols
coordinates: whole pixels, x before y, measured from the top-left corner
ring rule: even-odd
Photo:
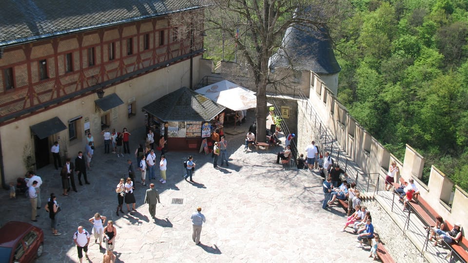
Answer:
[[[223,36],[235,43],[239,65],[252,76],[257,96],[257,138],[266,135],[267,87],[282,86],[289,75],[283,73],[278,78],[270,74],[269,59],[284,44],[282,39],[289,27],[320,29],[330,25],[342,13],[337,1],[209,0],[206,4],[206,30],[222,30]],[[287,54],[283,52],[282,56]],[[294,71],[293,61],[290,73]]]

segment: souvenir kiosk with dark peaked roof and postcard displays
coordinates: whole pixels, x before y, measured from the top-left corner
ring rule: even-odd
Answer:
[[[146,125],[160,127],[168,150],[198,150],[211,135],[211,122],[224,107],[183,87],[144,106]],[[217,123],[217,122],[216,122]],[[158,136],[157,136],[158,137]]]

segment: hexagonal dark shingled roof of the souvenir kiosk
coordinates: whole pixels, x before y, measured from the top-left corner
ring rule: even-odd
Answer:
[[[207,121],[226,109],[213,100],[182,87],[143,107],[162,121]]]

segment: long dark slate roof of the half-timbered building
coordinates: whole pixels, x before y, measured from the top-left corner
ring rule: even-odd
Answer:
[[[2,0],[0,47],[199,8],[199,0]]]

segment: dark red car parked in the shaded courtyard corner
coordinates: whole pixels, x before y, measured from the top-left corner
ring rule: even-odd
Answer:
[[[42,229],[25,222],[8,222],[0,228],[0,263],[29,263],[43,251]]]

